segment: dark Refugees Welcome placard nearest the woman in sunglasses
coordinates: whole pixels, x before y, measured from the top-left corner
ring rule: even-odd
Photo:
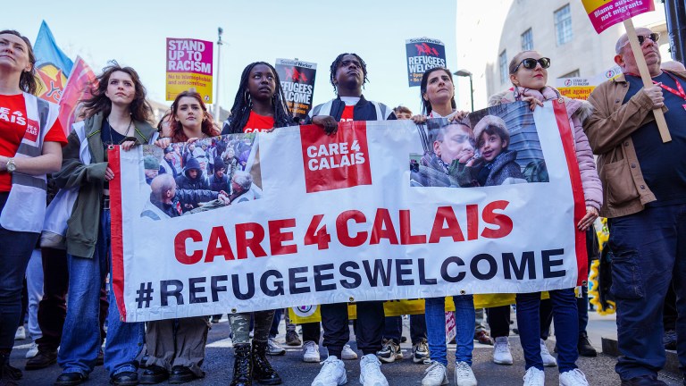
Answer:
[[[446,67],[446,46],[432,38],[410,38],[405,41],[407,81],[410,87],[422,84],[424,71]]]

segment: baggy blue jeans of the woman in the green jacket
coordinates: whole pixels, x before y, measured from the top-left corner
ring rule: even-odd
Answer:
[[[88,374],[100,350],[100,286],[111,266],[110,211],[100,214],[96,252],[92,258],[68,255],[67,317],[57,361],[64,373]],[[113,376],[138,369],[136,357],[143,348],[144,323],[123,323],[110,289],[105,369]]]

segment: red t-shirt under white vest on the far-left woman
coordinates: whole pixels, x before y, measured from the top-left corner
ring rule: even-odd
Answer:
[[[27,125],[27,123],[31,123]],[[24,95],[0,95],[0,155],[13,157],[26,134],[27,127],[38,128],[38,122],[28,122],[26,117],[26,102]],[[38,134],[38,130],[36,130]],[[44,142],[67,143],[60,120],[54,122],[46,134]],[[8,172],[0,172],[0,191],[12,189],[12,176]]]

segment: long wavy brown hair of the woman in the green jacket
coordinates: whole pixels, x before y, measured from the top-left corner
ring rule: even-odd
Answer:
[[[136,88],[136,94],[133,97],[133,102],[129,106],[131,119],[138,122],[148,122],[153,116],[153,108],[146,101],[146,88],[140,82],[138,72],[131,67],[121,67],[116,61],[110,61],[103,69],[103,73],[98,75],[96,82],[90,90],[90,97],[83,101],[84,108],[88,112],[88,116],[93,116],[96,113],[103,113],[105,116],[112,111],[112,101],[105,95],[107,85],[110,83],[110,76],[113,72],[121,71],[129,74],[133,81],[133,86]]]

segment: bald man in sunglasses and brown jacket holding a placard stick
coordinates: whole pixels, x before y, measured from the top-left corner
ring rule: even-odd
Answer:
[[[595,107],[584,129],[598,155],[607,193],[600,214],[607,217],[613,252],[612,289],[617,303],[615,371],[622,385],[664,385],[662,313],[673,280],[677,299],[686,296],[686,72],[660,68],[659,35],[636,29],[653,85],[645,88],[637,58],[623,35],[615,63],[623,74],[595,88]],[[663,109],[672,140],[663,142],[653,109]],[[649,287],[648,287],[649,286]],[[677,301],[680,365],[686,366],[686,303]]]

